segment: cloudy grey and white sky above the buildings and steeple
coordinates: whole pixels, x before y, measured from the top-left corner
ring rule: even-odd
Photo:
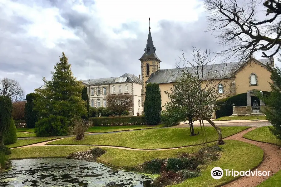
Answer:
[[[90,79],[138,75],[149,17],[161,69],[175,68],[193,46],[222,48],[204,32],[200,0],[0,0],[0,79],[34,92],[63,51],[79,80],[89,78],[89,64]]]

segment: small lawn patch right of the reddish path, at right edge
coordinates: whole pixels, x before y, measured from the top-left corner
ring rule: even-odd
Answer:
[[[266,143],[275,144],[281,146],[281,141],[278,140],[269,130],[268,126],[256,128],[247,134],[244,134],[244,138],[250,140],[262,141]]]

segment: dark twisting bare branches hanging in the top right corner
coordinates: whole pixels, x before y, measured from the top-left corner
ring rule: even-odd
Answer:
[[[228,46],[217,54],[226,59],[237,58],[246,62],[256,51],[263,51],[262,57],[275,55],[281,46],[281,2],[266,0],[264,19],[258,19],[260,1],[251,0],[204,0],[209,12],[207,31],[216,33],[219,44]]]

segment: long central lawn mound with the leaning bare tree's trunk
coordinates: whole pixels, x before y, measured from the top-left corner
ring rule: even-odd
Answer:
[[[248,127],[221,127],[223,137],[240,132]],[[215,141],[218,134],[214,127],[205,127],[207,141]],[[110,134],[86,135],[83,140],[75,141],[73,137],[48,143],[48,145],[108,145],[137,149],[160,149],[190,146],[202,143],[200,127],[194,127],[199,136],[191,137],[189,128],[163,128],[118,132]]]

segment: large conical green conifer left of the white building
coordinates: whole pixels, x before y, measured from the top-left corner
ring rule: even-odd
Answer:
[[[46,89],[38,90],[40,94],[35,101],[38,111],[35,131],[39,137],[67,135],[73,119],[87,115],[86,103],[81,98],[83,86],[73,76],[64,52],[54,69],[51,81],[43,77]]]

